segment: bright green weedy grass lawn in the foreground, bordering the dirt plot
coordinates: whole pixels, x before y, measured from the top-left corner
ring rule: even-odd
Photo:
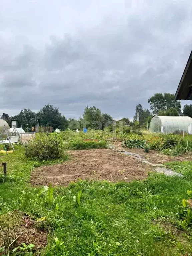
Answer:
[[[191,162],[167,164],[184,178],[151,173],[146,180],[132,183],[80,180],[55,187],[51,199],[37,195],[41,188],[30,185],[30,172],[36,166],[60,161],[29,161],[24,158],[24,148],[15,148],[13,154],[0,158],[7,162],[8,173],[0,184],[0,217],[6,219],[15,209],[33,219],[45,217],[37,225],[47,231],[48,244],[37,255],[192,255],[191,230],[180,228],[177,214],[186,191],[192,189]],[[79,191],[78,204],[74,196]],[[13,255],[11,247],[9,255]]]

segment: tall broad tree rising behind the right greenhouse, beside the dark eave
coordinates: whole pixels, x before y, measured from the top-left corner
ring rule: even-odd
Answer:
[[[181,102],[176,100],[174,101],[174,94],[165,93],[156,93],[150,99],[148,99],[150,104],[150,109],[153,110],[153,114],[158,114],[159,111],[166,111],[170,108],[175,108],[181,114]]]

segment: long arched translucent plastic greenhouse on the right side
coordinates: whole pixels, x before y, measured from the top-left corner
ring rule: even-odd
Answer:
[[[188,116],[153,116],[149,131],[152,133],[174,133],[184,131],[188,133],[192,118]]]

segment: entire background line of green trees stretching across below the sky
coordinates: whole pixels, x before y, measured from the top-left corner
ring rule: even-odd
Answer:
[[[10,119],[17,119],[19,125],[26,132],[31,132],[35,123],[39,123],[43,127],[53,127],[53,130],[56,128],[61,130],[66,130],[67,128],[83,129],[83,127],[103,130],[106,126],[114,123],[119,124],[120,121],[124,125],[133,126],[134,124],[139,124],[141,127],[147,127],[147,124],[150,123],[152,116],[155,114],[159,116],[189,116],[192,118],[192,104],[186,104],[181,110],[181,102],[174,101],[174,94],[156,93],[148,99],[148,103],[150,104],[150,110],[143,109],[141,104],[137,104],[133,121],[130,121],[127,117],[114,121],[108,113],[102,113],[95,106],[86,106],[82,117],[78,120],[73,118],[66,119],[58,107],[50,104],[46,104],[37,113],[30,109],[23,109]]]

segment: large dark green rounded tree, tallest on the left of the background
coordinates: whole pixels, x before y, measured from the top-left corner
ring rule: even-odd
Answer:
[[[59,108],[46,104],[39,110],[37,116],[41,126],[51,126],[53,127],[53,130],[56,128],[63,129],[64,118],[59,111]]]

